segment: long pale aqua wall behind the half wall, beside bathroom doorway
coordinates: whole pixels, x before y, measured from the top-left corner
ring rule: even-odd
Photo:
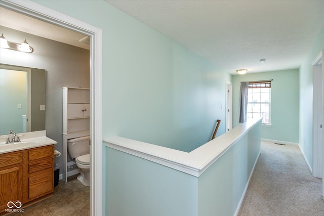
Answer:
[[[229,74],[103,1],[34,2],[102,29],[103,137],[191,151],[225,132]]]

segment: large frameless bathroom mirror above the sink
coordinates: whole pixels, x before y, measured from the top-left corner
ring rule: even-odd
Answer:
[[[0,135],[45,130],[46,70],[0,64]]]

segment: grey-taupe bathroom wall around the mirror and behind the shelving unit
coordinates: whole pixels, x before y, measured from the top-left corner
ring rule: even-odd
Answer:
[[[46,131],[49,138],[58,142],[55,150],[62,152],[62,87],[90,88],[89,50],[3,26],[0,29],[9,41],[26,38],[34,49],[31,54],[2,49],[0,63],[47,71]],[[62,164],[62,157],[55,157],[55,162]]]

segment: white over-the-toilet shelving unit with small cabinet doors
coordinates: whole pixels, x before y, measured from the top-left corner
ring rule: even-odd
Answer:
[[[63,150],[62,175],[67,177],[78,174],[79,170],[68,171],[68,167],[75,165],[74,161],[67,161],[67,140],[90,135],[90,90],[83,88],[63,87]],[[76,166],[76,165],[75,165]]]

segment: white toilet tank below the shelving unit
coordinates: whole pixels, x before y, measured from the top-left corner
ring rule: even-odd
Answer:
[[[67,140],[67,151],[71,158],[90,153],[90,136]]]

